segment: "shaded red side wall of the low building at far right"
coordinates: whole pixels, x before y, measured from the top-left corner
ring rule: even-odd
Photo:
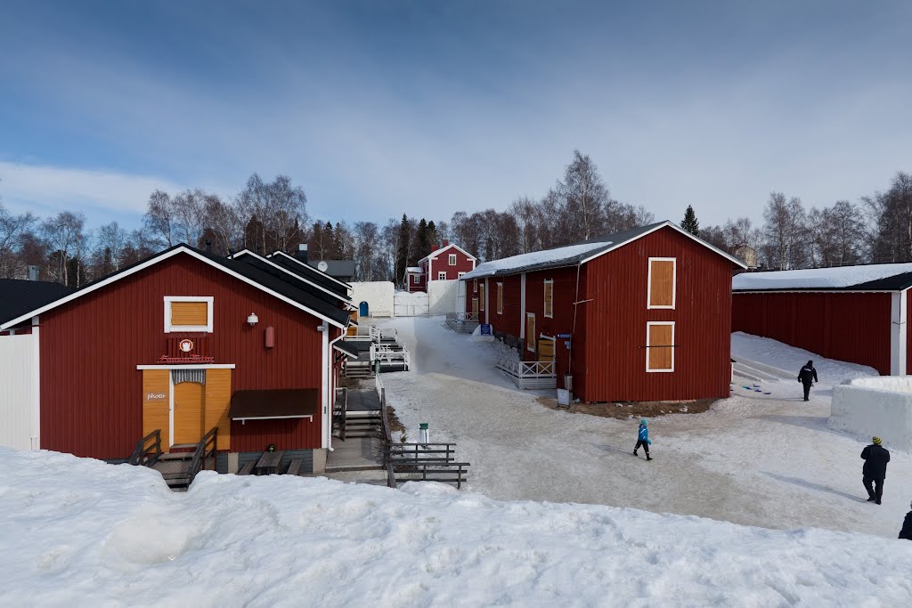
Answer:
[[[731,326],[890,373],[891,294],[734,294]]]

